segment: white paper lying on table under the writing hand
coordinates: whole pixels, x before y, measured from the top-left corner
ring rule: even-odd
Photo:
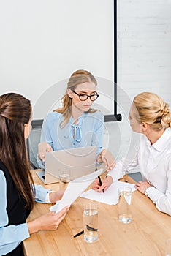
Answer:
[[[115,205],[118,203],[118,188],[119,187],[131,187],[132,192],[136,189],[134,188],[134,184],[125,183],[122,181],[115,181],[113,184],[105,190],[105,192],[96,192],[93,189],[90,189],[86,192],[83,192],[80,197],[84,197],[87,199],[95,200],[100,203],[107,203],[109,205]]]

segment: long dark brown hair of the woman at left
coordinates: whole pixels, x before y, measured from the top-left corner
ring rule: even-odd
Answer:
[[[31,118],[31,103],[20,94],[0,96],[0,159],[9,170],[15,187],[26,200],[26,208],[34,205],[33,179],[24,138],[24,127]]]

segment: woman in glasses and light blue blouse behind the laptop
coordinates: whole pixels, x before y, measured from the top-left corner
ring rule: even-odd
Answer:
[[[102,149],[104,116],[91,108],[99,97],[96,79],[86,70],[77,70],[69,78],[62,108],[49,113],[43,122],[37,162],[45,166],[45,152],[83,146],[97,146],[96,161],[104,162],[107,170],[115,166],[110,151]]]

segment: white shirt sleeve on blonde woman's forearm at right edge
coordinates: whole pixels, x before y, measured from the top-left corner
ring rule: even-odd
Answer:
[[[148,197],[156,204],[159,211],[171,216],[171,156],[168,158],[167,164],[167,190],[165,194],[155,187],[151,187],[148,191]]]

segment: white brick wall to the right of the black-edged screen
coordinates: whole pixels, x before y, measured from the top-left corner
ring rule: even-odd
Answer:
[[[130,100],[142,91],[152,91],[171,107],[170,0],[118,1],[118,85],[123,121],[106,125],[112,141],[109,147],[121,157],[134,140],[127,119]]]

